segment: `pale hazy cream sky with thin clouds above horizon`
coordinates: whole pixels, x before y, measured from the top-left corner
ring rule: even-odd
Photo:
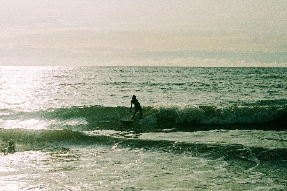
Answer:
[[[287,67],[286,0],[1,0],[0,65]]]

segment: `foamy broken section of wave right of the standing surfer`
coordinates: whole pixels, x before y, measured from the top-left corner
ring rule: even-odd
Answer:
[[[176,123],[237,124],[266,123],[287,116],[283,106],[158,106],[158,117],[172,118]]]

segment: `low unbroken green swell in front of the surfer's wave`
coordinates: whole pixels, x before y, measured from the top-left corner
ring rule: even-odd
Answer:
[[[193,157],[210,158],[225,161],[250,161],[276,166],[278,161],[287,160],[287,148],[263,148],[244,144],[214,144],[175,142],[168,140],[151,140],[139,138],[122,138],[109,135],[98,135],[72,130],[25,130],[0,129],[0,143],[4,146],[13,140],[16,151],[46,150],[68,147],[105,147],[106,149],[144,149],[150,152],[175,153]],[[284,163],[286,166],[286,163]]]

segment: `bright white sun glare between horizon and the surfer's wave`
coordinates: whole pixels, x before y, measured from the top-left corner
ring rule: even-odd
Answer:
[[[0,82],[0,106],[2,108],[15,108],[21,111],[35,110],[45,102],[43,97],[45,76],[43,67],[11,66],[2,67]]]

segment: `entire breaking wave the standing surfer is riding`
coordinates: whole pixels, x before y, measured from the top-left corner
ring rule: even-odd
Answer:
[[[26,129],[89,130],[96,127],[119,127],[119,121],[131,120],[128,107],[80,106],[48,108],[30,112],[1,109],[2,127]],[[169,105],[143,107],[140,125],[175,126],[188,124],[286,124],[287,105],[282,106],[192,106]],[[139,118],[138,114],[135,119]],[[25,126],[29,121],[30,127]],[[33,122],[34,121],[34,122]],[[34,125],[34,127],[33,127]],[[42,127],[41,127],[42,125]]]

